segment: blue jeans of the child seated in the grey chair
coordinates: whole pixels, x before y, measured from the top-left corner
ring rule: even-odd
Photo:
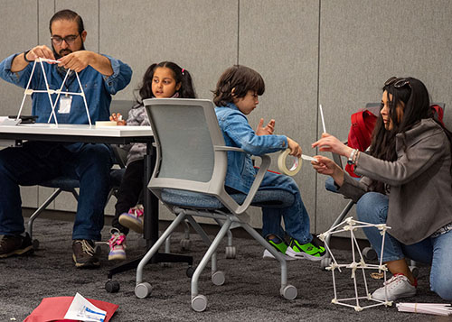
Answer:
[[[312,235],[309,233],[309,216],[294,179],[267,172],[259,190],[265,189],[286,190],[294,195],[294,203],[285,208],[262,207],[262,235],[264,237],[278,235],[284,238],[284,229],[281,227],[281,218],[284,218],[287,235],[297,239],[301,244],[310,243]]]

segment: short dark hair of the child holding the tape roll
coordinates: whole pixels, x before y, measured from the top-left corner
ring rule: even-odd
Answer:
[[[232,89],[234,89],[233,96]],[[249,90],[255,91],[259,96],[264,94],[264,79],[254,69],[234,65],[221,74],[216,89],[212,91],[213,103],[216,106],[226,106],[228,103],[233,103],[234,98],[245,97]]]

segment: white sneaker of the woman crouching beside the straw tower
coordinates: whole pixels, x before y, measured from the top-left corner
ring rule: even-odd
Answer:
[[[416,295],[416,286],[411,284],[410,280],[405,275],[395,274],[384,284],[386,284],[388,300],[392,301],[401,298],[410,298],[411,296]],[[386,300],[384,295],[385,291],[383,286],[372,293],[372,298]]]

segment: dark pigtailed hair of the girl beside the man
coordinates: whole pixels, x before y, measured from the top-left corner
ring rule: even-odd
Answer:
[[[142,103],[143,99],[154,97],[154,94],[152,93],[152,80],[154,78],[155,69],[159,67],[165,67],[173,71],[173,77],[176,85],[179,83],[181,84],[181,87],[177,90],[177,93],[179,93],[179,98],[196,98],[192,76],[190,75],[188,70],[182,69],[175,62],[162,61],[158,64],[152,64],[147,68],[146,73],[143,76],[143,81],[137,88],[139,94],[139,97],[137,98],[138,103]]]

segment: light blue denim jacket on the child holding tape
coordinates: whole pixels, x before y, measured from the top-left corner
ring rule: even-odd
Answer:
[[[287,149],[285,135],[256,135],[246,115],[229,103],[215,108],[218,123],[228,146],[243,149],[243,152],[228,152],[226,186],[243,193],[250,191],[256,175],[250,155],[261,155]]]

